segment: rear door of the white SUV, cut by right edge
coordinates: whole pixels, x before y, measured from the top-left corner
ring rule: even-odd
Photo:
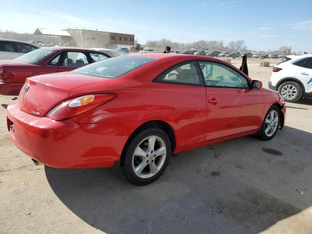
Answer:
[[[304,59],[304,63],[300,64],[296,73],[296,78],[299,79],[305,86],[306,93],[312,92],[312,58]]]

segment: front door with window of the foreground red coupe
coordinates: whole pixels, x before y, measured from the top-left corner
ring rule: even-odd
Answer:
[[[218,62],[198,61],[203,73],[207,141],[254,131],[261,125],[264,100],[259,89],[233,68]]]

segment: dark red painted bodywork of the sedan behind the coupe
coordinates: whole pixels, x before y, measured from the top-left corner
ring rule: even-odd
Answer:
[[[54,53],[40,61],[38,64],[27,63],[16,59],[0,60],[0,68],[5,72],[10,72],[14,75],[14,78],[0,78],[0,95],[19,95],[20,89],[24,85],[26,78],[43,74],[72,71],[74,69],[77,69],[78,67],[61,67],[47,65],[47,63],[51,59],[53,59],[56,55],[63,51],[101,53],[95,50],[69,47],[45,47],[44,49],[54,50]],[[11,85],[9,85],[9,83]]]

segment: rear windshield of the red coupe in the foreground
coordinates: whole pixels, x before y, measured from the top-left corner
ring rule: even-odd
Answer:
[[[102,78],[118,78],[156,59],[146,57],[115,57],[78,68],[71,73]]]

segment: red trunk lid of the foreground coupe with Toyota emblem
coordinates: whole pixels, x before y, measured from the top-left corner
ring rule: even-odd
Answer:
[[[43,117],[56,104],[68,99],[71,89],[107,80],[110,79],[66,72],[27,78],[18,106],[28,114]]]

